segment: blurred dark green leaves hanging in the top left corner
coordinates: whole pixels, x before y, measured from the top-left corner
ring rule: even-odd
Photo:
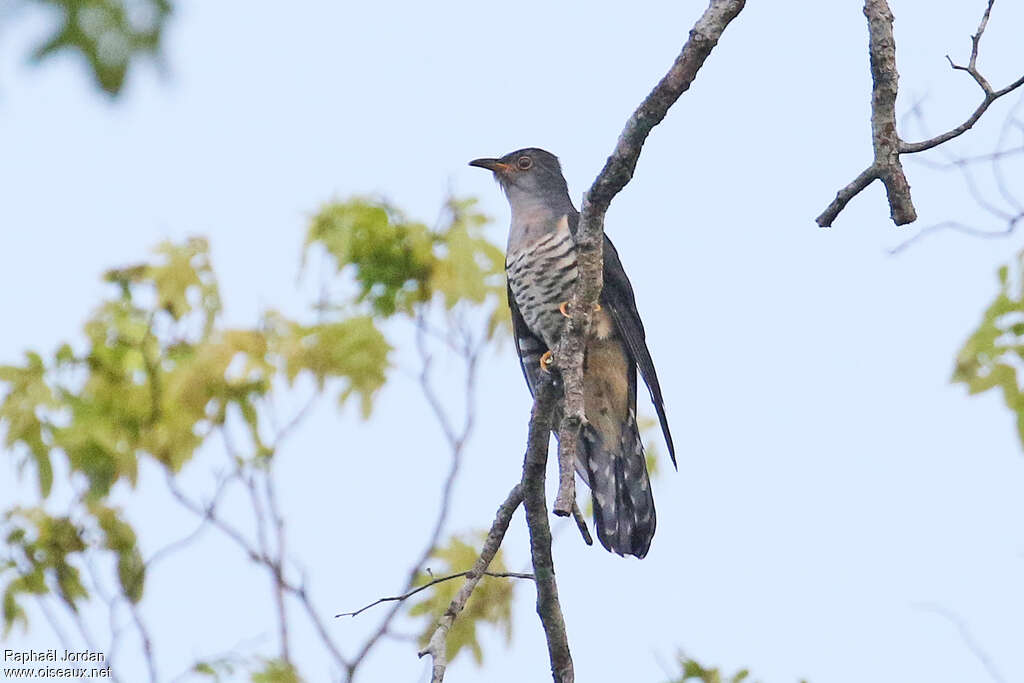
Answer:
[[[103,91],[124,87],[131,63],[160,51],[170,0],[35,0],[57,13],[53,33],[34,52],[42,60],[60,51],[81,54]]]

